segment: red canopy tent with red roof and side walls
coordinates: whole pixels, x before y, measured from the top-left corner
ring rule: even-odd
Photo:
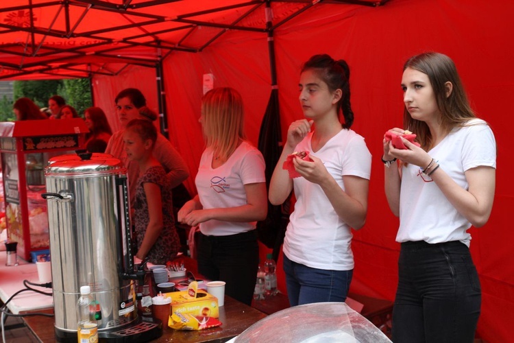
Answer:
[[[114,96],[128,86],[142,89],[149,105],[165,113],[164,129],[191,169],[187,185],[194,191],[204,148],[198,123],[203,74],[212,73],[215,86],[241,92],[247,134],[256,145],[272,84],[278,86],[284,137],[289,123],[302,117],[302,62],[319,53],[344,58],[352,69],[352,128],[374,156],[367,224],[354,235],[352,290],[392,300],[398,221],[383,192],[382,135],[402,126],[406,58],[448,54],[498,143],[493,213],[486,226],[471,229],[471,250],[482,284],[478,334],[508,342],[514,321],[514,235],[507,217],[514,183],[508,171],[514,166],[507,140],[513,119],[503,113],[514,91],[513,13],[511,0],[2,1],[0,79],[90,77],[95,105],[114,128]]]

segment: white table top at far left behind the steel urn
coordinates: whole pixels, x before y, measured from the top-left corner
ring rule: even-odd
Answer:
[[[18,259],[20,265],[8,267],[5,265],[6,259],[6,253],[0,252],[0,299],[3,303],[5,303],[12,294],[25,288],[23,280],[39,283],[36,263],[27,263],[22,259]],[[42,292],[51,292],[51,289],[45,287],[31,287]],[[21,311],[47,309],[53,307],[53,297],[37,292],[25,291],[12,298],[7,307],[13,314],[19,314]]]

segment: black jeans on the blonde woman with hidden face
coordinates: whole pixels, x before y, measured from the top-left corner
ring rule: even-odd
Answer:
[[[199,235],[198,272],[212,281],[225,281],[225,294],[252,305],[259,246],[256,230],[229,236]]]

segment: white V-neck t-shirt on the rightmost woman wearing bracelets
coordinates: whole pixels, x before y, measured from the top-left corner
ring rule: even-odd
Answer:
[[[468,189],[464,172],[478,166],[496,168],[496,143],[491,128],[481,119],[455,128],[428,152],[459,186]],[[400,228],[396,241],[431,244],[462,241],[469,246],[471,224],[457,212],[435,182],[416,165],[402,168]]]

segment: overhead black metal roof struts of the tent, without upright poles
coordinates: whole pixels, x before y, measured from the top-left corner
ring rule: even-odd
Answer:
[[[319,3],[337,3],[337,4],[356,4],[356,5],[365,5],[365,6],[379,6],[386,3],[388,0],[377,0],[374,2],[363,1],[363,0],[250,0],[244,3],[238,3],[236,5],[230,6],[221,6],[219,8],[213,8],[211,10],[203,10],[196,12],[189,12],[186,14],[180,14],[173,18],[164,15],[155,15],[137,12],[140,8],[149,8],[151,6],[163,5],[167,3],[174,3],[180,0],[149,0],[140,3],[132,3],[132,0],[125,0],[124,5],[117,5],[114,3],[109,3],[107,1],[102,0],[60,0],[60,1],[48,1],[46,3],[38,3],[32,4],[32,1],[29,1],[29,4],[23,6],[13,6],[10,8],[0,9],[0,13],[5,12],[13,12],[13,11],[29,11],[30,13],[30,27],[19,27],[14,25],[9,25],[8,23],[0,23],[0,35],[3,32],[26,32],[29,34],[29,39],[25,43],[19,44],[3,44],[0,45],[0,53],[3,54],[12,54],[14,56],[21,56],[22,58],[38,58],[37,62],[27,62],[24,63],[22,60],[21,64],[12,64],[8,62],[0,61],[0,67],[4,69],[10,69],[10,71],[14,72],[10,75],[0,76],[0,80],[2,79],[13,79],[19,75],[27,75],[30,73],[43,73],[43,74],[51,74],[54,76],[54,73],[57,72],[58,69],[69,69],[73,71],[84,71],[84,77],[88,77],[90,73],[101,73],[102,75],[106,73],[105,70],[97,71],[97,69],[101,69],[103,63],[86,63],[82,60],[78,62],[73,62],[73,60],[85,58],[87,56],[95,56],[97,58],[105,58],[106,60],[121,63],[121,64],[136,64],[144,67],[156,67],[156,64],[160,63],[161,59],[166,58],[173,51],[186,51],[186,52],[200,52],[208,45],[213,43],[217,38],[228,32],[229,30],[238,30],[238,31],[248,31],[248,32],[262,32],[263,34],[269,34],[269,32],[273,32],[278,27],[284,25],[291,19],[295,18],[299,14],[302,14],[309,8],[312,8],[315,5],[319,5]],[[267,25],[265,27],[248,27],[244,25],[238,25],[243,19],[252,14],[262,5],[266,5],[266,3],[280,3],[280,2],[291,2],[291,3],[305,3],[303,8],[297,10],[297,12],[290,14],[285,19],[282,19],[279,23],[274,25]],[[50,27],[42,28],[34,26],[33,16],[35,8],[49,8],[56,7],[55,16],[53,17],[53,21],[51,21]],[[71,7],[75,6],[78,8],[83,8],[84,12],[82,15],[75,21],[75,23],[71,23],[70,21],[70,10]],[[82,20],[86,16],[86,14],[91,10],[101,10],[104,12],[115,12],[118,14],[123,14],[124,16],[132,16],[134,18],[142,19],[139,23],[132,23],[130,25],[121,25],[115,27],[109,27],[107,29],[97,29],[88,32],[77,33],[75,30],[82,23]],[[234,10],[234,9],[244,9],[249,8],[247,12],[243,13],[236,21],[232,23],[212,23],[208,21],[201,21],[195,19],[195,17],[203,16],[205,14],[212,14],[215,12],[223,12],[225,10]],[[64,11],[64,19],[66,21],[65,27],[66,31],[60,31],[58,29],[53,29],[54,23],[58,20],[61,12]],[[180,27],[172,27],[170,29],[162,29],[155,32],[149,32],[145,27],[149,25],[153,25],[156,23],[164,23],[167,21],[172,21],[175,23],[182,23]],[[106,38],[106,36],[112,36],[112,33],[117,32],[122,29],[137,27],[141,29],[142,33],[136,36],[129,36],[120,39],[114,38]],[[188,36],[190,36],[195,30],[199,29],[199,27],[212,27],[215,29],[219,29],[219,32],[213,34],[213,36],[208,39],[203,45],[199,47],[188,47],[184,44],[184,40]],[[159,39],[158,36],[160,34],[164,34],[167,32],[174,31],[183,31],[184,35],[178,43],[167,42],[165,40]],[[35,35],[42,35],[43,38],[39,43],[36,43]],[[103,36],[101,36],[103,35]],[[81,45],[79,47],[68,47],[68,48],[58,48],[50,45],[45,45],[45,39],[47,36],[53,36],[56,38],[70,39],[70,38],[87,38],[90,40],[96,40],[97,43],[91,43],[87,45]],[[141,38],[148,37],[149,39],[145,42],[138,41]],[[104,45],[111,45],[112,43],[118,43],[118,47],[108,47],[106,49],[98,49]],[[156,58],[136,58],[133,56],[127,56],[125,54],[125,50],[130,47],[138,47],[145,46],[154,49],[161,49],[163,54],[160,57]],[[22,48],[22,49],[20,49]],[[95,49],[95,50],[93,50]],[[59,63],[66,62],[64,67]],[[79,66],[83,66],[79,68]],[[112,71],[112,75],[117,75],[118,71]],[[64,75],[63,75],[64,76]],[[76,77],[76,76],[75,76]]]

